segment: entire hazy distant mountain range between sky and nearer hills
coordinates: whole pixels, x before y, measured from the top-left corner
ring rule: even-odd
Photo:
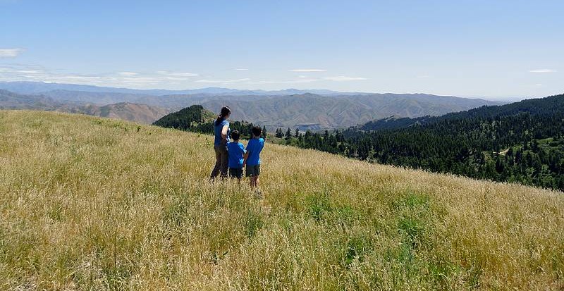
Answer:
[[[347,128],[388,116],[441,116],[449,112],[501,104],[484,99],[430,94],[368,94],[298,89],[262,91],[210,87],[171,91],[43,82],[0,82],[0,89],[21,95],[19,101],[12,95],[11,101],[0,102],[3,108],[84,112],[152,123],[168,113],[195,104],[213,112],[227,105],[231,107],[233,120],[258,123],[269,129],[300,130]],[[10,94],[4,93],[4,96]]]

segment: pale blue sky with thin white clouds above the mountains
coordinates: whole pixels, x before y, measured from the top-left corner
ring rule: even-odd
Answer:
[[[564,93],[564,1],[0,0],[0,81]]]

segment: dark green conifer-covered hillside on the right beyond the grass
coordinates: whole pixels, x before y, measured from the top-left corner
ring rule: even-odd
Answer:
[[[564,95],[440,117],[378,120],[334,134],[305,132],[287,143],[376,163],[564,190]]]

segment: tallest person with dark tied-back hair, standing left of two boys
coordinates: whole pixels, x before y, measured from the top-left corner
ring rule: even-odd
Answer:
[[[221,113],[214,120],[214,151],[216,152],[216,165],[212,170],[212,175],[209,176],[210,180],[215,180],[217,175],[221,178],[227,177],[228,166],[228,153],[227,143],[229,142],[229,122],[227,119],[231,116],[231,109],[228,106],[221,107]]]

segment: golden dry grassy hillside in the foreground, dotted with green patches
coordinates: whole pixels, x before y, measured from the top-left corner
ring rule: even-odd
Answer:
[[[564,196],[267,144],[0,111],[0,290],[559,290]]]

